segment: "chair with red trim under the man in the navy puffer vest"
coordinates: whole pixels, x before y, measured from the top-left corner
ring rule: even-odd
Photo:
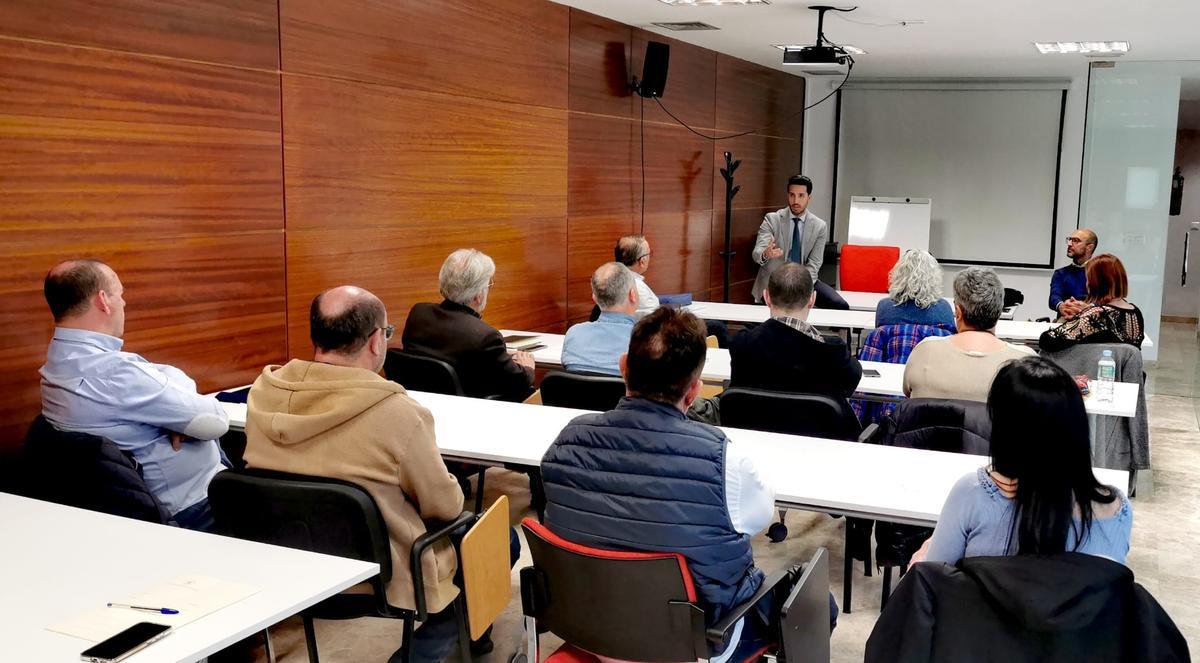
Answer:
[[[738,621],[769,595],[779,598],[774,605],[782,603],[782,610],[781,638],[768,651],[786,651],[788,663],[829,661],[829,572],[823,548],[800,573],[786,601],[776,587],[787,587],[788,569],[768,577],[752,597],[706,628],[683,555],[584,546],[528,518],[522,527],[533,566],[521,569],[527,650],[515,655],[514,663],[599,663],[598,656],[707,659],[710,649],[720,646]],[[538,634],[545,631],[564,640],[547,657],[539,651]],[[748,661],[757,661],[762,653]]]

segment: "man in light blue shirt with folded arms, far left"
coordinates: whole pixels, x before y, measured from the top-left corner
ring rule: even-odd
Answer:
[[[97,261],[67,261],[46,275],[55,329],[41,369],[42,414],[59,430],[115,442],[175,522],[211,530],[208,489],[229,418],[179,369],[121,352],[124,292]]]

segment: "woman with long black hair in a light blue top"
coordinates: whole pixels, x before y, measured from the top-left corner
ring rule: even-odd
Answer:
[[[996,374],[988,412],[991,464],[954,485],[913,561],[1078,551],[1124,563],[1133,509],[1092,473],[1075,381],[1048,359],[1018,359]]]

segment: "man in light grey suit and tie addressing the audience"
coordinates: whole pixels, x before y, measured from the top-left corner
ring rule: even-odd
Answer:
[[[809,211],[812,180],[805,175],[787,178],[787,207],[768,213],[758,226],[758,239],[754,245],[754,261],[758,263],[758,277],[754,282],[754,300],[762,303],[762,291],[767,289],[770,273],[788,262],[809,268],[816,286],[817,309],[848,310],[850,304],[838,291],[817,279],[824,262],[824,245],[829,239],[829,226]],[[796,241],[799,235],[799,241]]]

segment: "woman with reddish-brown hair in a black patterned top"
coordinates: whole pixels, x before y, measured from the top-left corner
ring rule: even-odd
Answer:
[[[1050,352],[1075,344],[1129,344],[1141,347],[1146,325],[1141,310],[1126,301],[1129,277],[1112,253],[1087,261],[1087,306],[1076,317],[1042,333],[1038,345]]]

